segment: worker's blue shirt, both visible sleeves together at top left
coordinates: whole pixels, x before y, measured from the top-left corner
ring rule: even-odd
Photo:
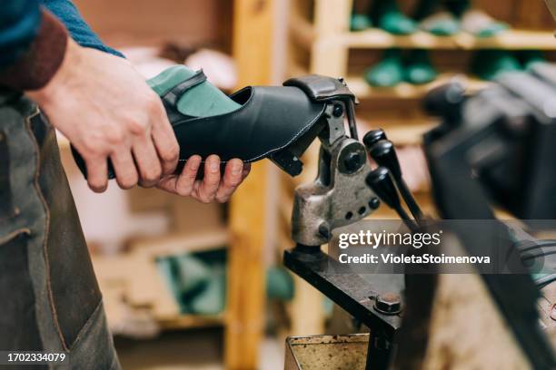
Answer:
[[[124,56],[106,46],[84,23],[70,0],[2,0],[0,5],[0,67],[14,63],[33,43],[41,23],[40,6],[65,24],[77,44]]]

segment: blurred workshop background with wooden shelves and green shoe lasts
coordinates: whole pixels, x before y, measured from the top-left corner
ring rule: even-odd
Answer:
[[[226,93],[290,76],[343,76],[359,130],[382,127],[434,214],[422,96],[452,78],[476,92],[506,71],[556,61],[541,0],[74,0],[94,31],[145,78],[203,68]],[[86,186],[60,138],[109,326],[124,369],[283,368],[286,336],[364,331],[281,267],[293,189],[313,180],[317,145],[295,179],[253,166],[229,204],[159,190]],[[394,218],[379,209],[374,218]]]

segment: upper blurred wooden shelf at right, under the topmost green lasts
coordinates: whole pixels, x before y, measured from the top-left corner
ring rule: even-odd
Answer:
[[[381,29],[336,34],[320,43],[340,43],[348,48],[385,49],[391,47],[418,49],[541,49],[556,50],[554,34],[546,31],[511,29],[493,37],[479,38],[472,34],[460,33],[452,36],[435,36],[426,32],[409,35],[389,34]]]

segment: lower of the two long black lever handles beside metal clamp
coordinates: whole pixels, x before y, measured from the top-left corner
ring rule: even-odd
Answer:
[[[405,209],[402,208],[398,191],[390,176],[390,170],[386,167],[379,167],[376,170],[372,170],[365,181],[388,207],[394,209],[398,213],[409,229],[417,231],[417,226],[412,222],[412,219],[410,219]]]

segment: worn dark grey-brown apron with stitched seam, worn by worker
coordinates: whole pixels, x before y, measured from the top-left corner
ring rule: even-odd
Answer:
[[[0,93],[0,297],[0,350],[119,368],[55,130],[16,93]]]

